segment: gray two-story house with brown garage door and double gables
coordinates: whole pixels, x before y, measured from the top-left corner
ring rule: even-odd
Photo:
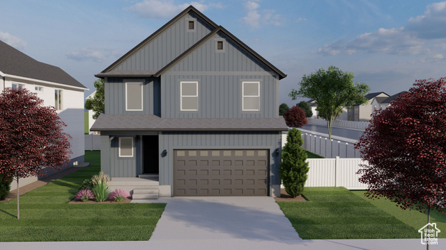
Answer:
[[[151,174],[161,196],[280,195],[286,74],[196,8],[95,76],[105,114],[91,130],[112,182]]]

